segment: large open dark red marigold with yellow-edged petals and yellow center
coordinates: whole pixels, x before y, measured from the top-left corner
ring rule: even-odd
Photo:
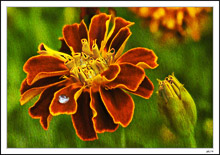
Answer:
[[[21,84],[20,102],[40,94],[29,114],[40,119],[45,130],[52,116],[67,114],[80,139],[95,140],[97,133],[129,125],[135,105],[127,92],[145,99],[152,95],[154,86],[144,69],[156,68],[157,56],[142,47],[122,55],[134,23],[116,17],[107,35],[110,18],[95,15],[89,30],[83,20],[65,25],[59,51],[42,43],[40,55],[24,64],[27,78]]]

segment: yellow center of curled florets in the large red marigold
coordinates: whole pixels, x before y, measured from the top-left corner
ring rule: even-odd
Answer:
[[[102,54],[96,42],[93,42],[92,50],[86,39],[82,39],[82,52],[73,53],[66,66],[70,69],[70,75],[79,79],[85,86],[91,86],[94,78],[107,70],[113,60],[113,53]]]

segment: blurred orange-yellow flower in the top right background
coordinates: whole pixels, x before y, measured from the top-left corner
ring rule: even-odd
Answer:
[[[163,30],[165,34],[189,35],[200,40],[200,32],[207,21],[209,7],[137,7],[130,8],[147,20],[152,33]],[[169,38],[169,37],[168,37]],[[167,38],[166,38],[167,39]]]

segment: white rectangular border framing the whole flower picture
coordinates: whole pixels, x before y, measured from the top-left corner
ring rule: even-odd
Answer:
[[[213,148],[7,148],[7,7],[213,7]],[[219,154],[219,1],[1,1],[1,153]]]

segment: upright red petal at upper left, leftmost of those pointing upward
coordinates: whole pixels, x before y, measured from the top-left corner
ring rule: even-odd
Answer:
[[[82,51],[81,39],[88,39],[88,30],[85,22],[80,24],[65,25],[63,27],[63,37],[66,44],[77,53]]]

